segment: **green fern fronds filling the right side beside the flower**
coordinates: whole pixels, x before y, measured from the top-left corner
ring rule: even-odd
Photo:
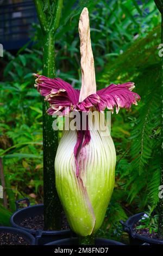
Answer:
[[[135,91],[141,96],[138,107],[132,107],[126,113],[131,120],[127,130],[130,133],[128,142],[118,135],[117,124],[121,124],[121,129],[127,127],[123,111],[118,113],[112,125],[112,137],[114,141],[119,141],[115,143],[119,159],[116,172],[121,180],[120,185],[127,191],[127,204],[134,206],[131,206],[133,213],[144,210],[147,204],[155,209],[158,203],[161,147],[159,42],[160,28],[156,27],[145,38],[137,39],[116,62],[109,63],[101,78],[101,87],[108,81],[134,81]]]

